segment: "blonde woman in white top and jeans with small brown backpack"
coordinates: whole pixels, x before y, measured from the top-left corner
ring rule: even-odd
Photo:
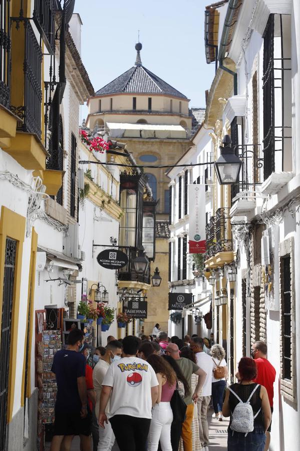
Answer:
[[[215,417],[218,418],[219,421],[222,421],[223,396],[226,386],[226,379],[228,377],[225,350],[219,344],[215,344],[211,347],[210,353],[213,362],[211,397],[214,414],[212,416],[213,418]]]

